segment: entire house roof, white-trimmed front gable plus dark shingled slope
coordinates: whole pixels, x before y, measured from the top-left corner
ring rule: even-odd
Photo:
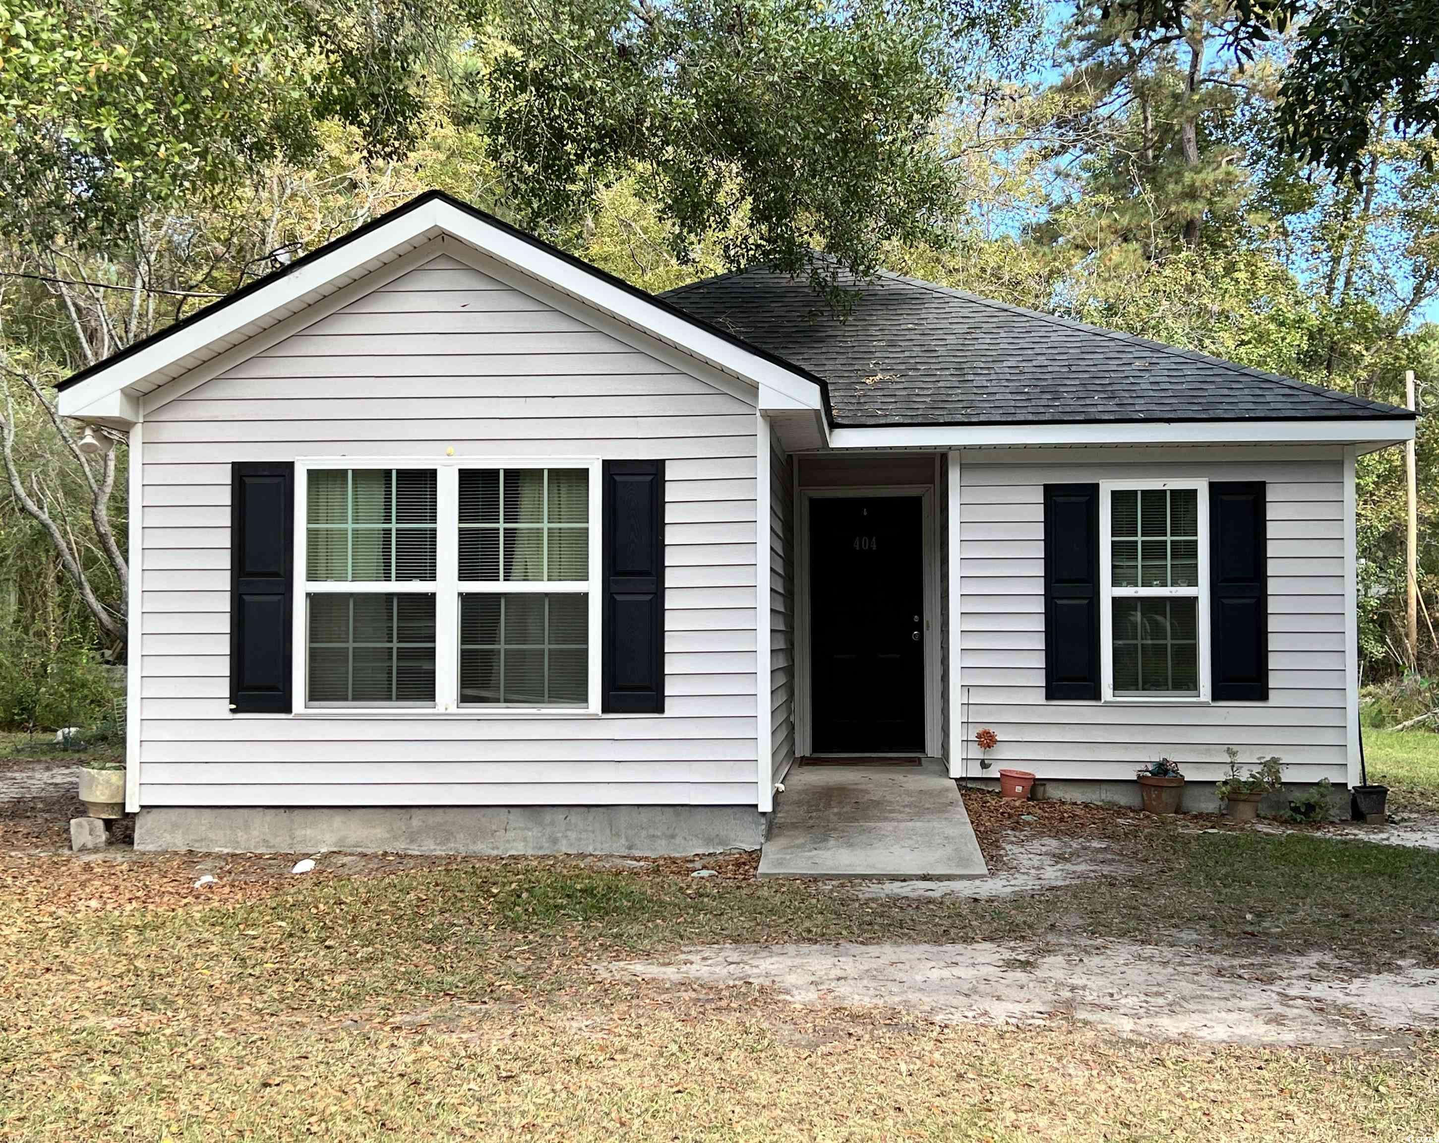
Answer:
[[[823,410],[836,446],[858,429],[898,426],[1014,435],[1046,423],[1250,422],[1255,439],[1269,439],[1263,425],[1288,420],[1327,423],[1327,441],[1413,435],[1404,409],[895,274],[843,275],[859,295],[845,321],[806,282],[758,268],[652,295],[437,190],[81,370],[59,386],[60,413],[134,423],[167,381],[203,380],[206,363],[227,366],[258,334],[299,328],[314,302],[442,236],[630,327],[640,344],[754,386],[763,409]]]

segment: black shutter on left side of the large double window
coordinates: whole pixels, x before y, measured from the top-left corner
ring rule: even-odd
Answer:
[[[230,466],[230,710],[291,710],[295,465]]]

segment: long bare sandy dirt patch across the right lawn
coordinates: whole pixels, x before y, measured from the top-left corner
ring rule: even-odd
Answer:
[[[881,1005],[941,1024],[1073,1018],[1150,1039],[1403,1047],[1439,1028],[1439,970],[1337,977],[1321,957],[1243,962],[1197,950],[1099,941],[1036,953],[1019,944],[814,944],[694,949],[612,973],[757,983],[800,1005]]]

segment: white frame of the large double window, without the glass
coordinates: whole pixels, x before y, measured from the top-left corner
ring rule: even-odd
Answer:
[[[308,489],[309,474],[319,469],[363,469],[363,468],[429,468],[435,469],[435,517],[436,517],[436,580],[311,580],[307,564]],[[527,580],[527,582],[462,582],[459,579],[459,471],[462,468],[576,468],[587,471],[590,481],[589,553],[590,576],[587,580]],[[553,715],[597,715],[600,713],[600,616],[602,616],[602,469],[594,456],[318,456],[295,462],[295,606],[292,616],[294,695],[298,714],[325,714],[331,717],[354,715],[466,715],[512,717],[525,714]],[[564,707],[507,707],[499,704],[459,704],[459,597],[460,593],[519,593],[540,592],[589,592],[589,701],[586,705]],[[309,705],[309,596],[357,595],[373,592],[396,595],[401,592],[435,595],[435,704],[433,705]]]

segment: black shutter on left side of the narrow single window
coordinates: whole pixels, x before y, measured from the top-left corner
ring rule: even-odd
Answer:
[[[1045,698],[1099,697],[1099,485],[1045,485]]]

